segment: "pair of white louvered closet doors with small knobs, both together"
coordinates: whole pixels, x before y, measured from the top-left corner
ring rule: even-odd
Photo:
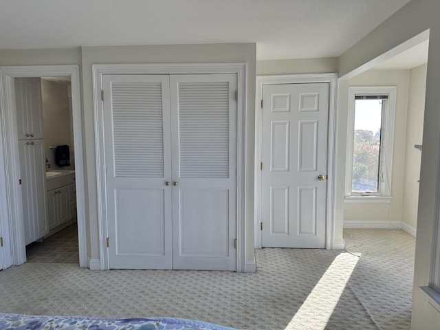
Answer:
[[[109,267],[236,270],[236,75],[104,75]]]

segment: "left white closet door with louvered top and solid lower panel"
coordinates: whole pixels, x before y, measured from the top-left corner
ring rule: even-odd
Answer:
[[[109,267],[171,269],[169,77],[102,83]]]

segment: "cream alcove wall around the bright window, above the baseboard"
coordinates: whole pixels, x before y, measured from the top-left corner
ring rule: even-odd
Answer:
[[[348,81],[351,86],[396,86],[396,111],[391,203],[344,203],[344,227],[390,227],[400,223],[404,198],[406,151],[406,115],[408,109],[409,70],[367,71]],[[347,88],[347,87],[345,87]],[[344,94],[345,96],[347,94]],[[341,97],[342,98],[342,97]],[[340,98],[340,101],[342,101]],[[348,102],[348,101],[347,101]],[[341,102],[341,104],[347,104]],[[340,108],[340,115],[348,109]],[[347,131],[347,129],[346,129]],[[417,201],[415,201],[417,203]],[[393,223],[393,224],[391,224]]]

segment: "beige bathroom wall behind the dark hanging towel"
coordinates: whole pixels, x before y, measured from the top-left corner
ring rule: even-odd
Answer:
[[[67,85],[41,79],[43,100],[43,136],[45,154],[51,170],[74,170],[74,142],[72,140],[72,122],[69,107]],[[70,166],[58,167],[55,162],[55,149],[50,146],[67,144],[70,151]]]

